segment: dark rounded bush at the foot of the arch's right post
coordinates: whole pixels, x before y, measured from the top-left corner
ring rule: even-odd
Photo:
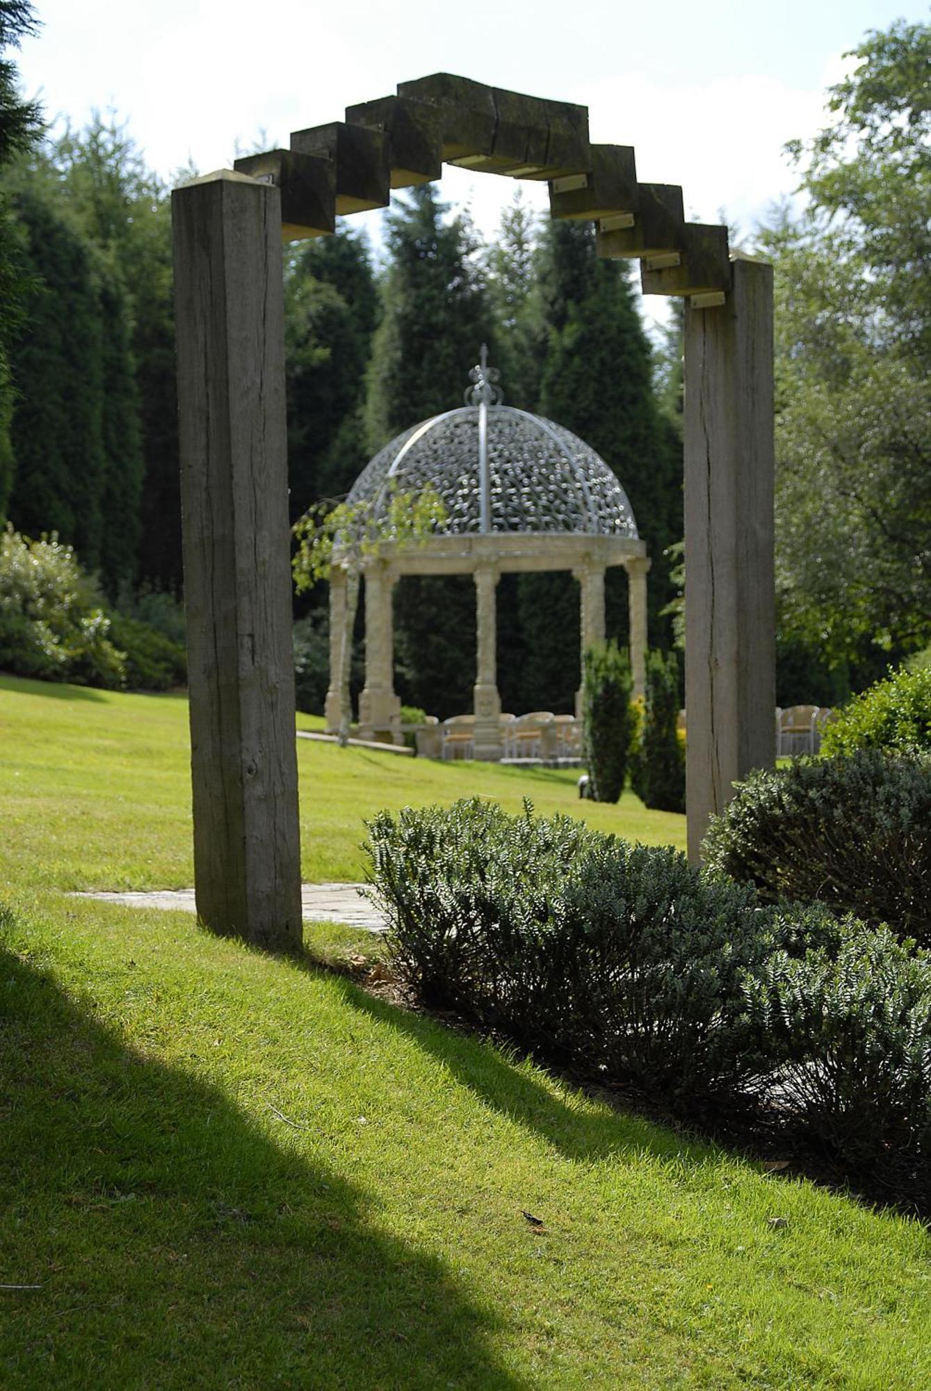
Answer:
[[[753,773],[711,819],[709,868],[931,944],[931,761],[877,750]]]

